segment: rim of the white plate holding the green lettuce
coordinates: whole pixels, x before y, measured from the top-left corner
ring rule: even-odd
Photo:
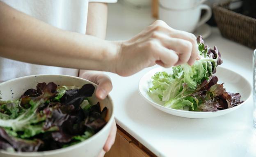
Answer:
[[[231,71],[231,72],[233,72],[233,73],[235,73],[236,75],[239,75],[240,77],[242,77],[242,79],[244,79],[245,80],[245,82],[246,82],[246,84],[248,84],[249,85],[249,87],[250,87],[250,90],[249,90],[249,96],[247,97],[247,99],[244,101],[244,102],[242,102],[241,104],[239,104],[238,106],[234,106],[234,107],[231,107],[231,108],[227,108],[227,109],[224,109],[224,110],[219,110],[219,111],[217,111],[217,112],[212,112],[212,111],[184,111],[184,110],[179,110],[179,109],[174,109],[174,108],[169,108],[169,107],[165,107],[165,106],[162,106],[162,105],[160,105],[160,104],[158,104],[158,103],[156,103],[156,102],[154,102],[153,100],[149,100],[149,99],[147,99],[145,96],[144,96],[144,94],[142,93],[142,79],[144,78],[144,77],[146,77],[146,75],[149,75],[149,73],[152,73],[152,71],[155,71],[155,70],[157,70],[157,69],[164,69],[164,68],[162,68],[162,67],[157,67],[157,68],[154,68],[154,69],[151,69],[150,71],[148,71],[148,72],[146,72],[141,78],[140,78],[140,80],[139,80],[139,84],[138,84],[138,91],[139,91],[139,94],[144,98],[144,100],[146,100],[147,102],[149,102],[151,105],[153,105],[153,106],[155,106],[155,107],[159,107],[159,108],[162,108],[163,110],[169,110],[169,111],[171,111],[171,112],[180,112],[180,113],[186,113],[186,114],[199,114],[199,115],[205,115],[205,114],[209,114],[209,113],[211,113],[211,114],[213,114],[213,113],[215,113],[215,114],[218,114],[218,113],[225,113],[225,112],[229,112],[229,111],[232,111],[232,110],[234,110],[234,108],[240,108],[242,105],[244,105],[248,100],[249,100],[249,98],[251,97],[251,93],[252,93],[252,87],[251,87],[251,84],[249,83],[249,81],[245,78],[245,77],[243,77],[242,75],[240,75],[239,73],[237,73],[237,72],[235,72],[235,71],[233,71],[233,70],[230,70],[230,69],[227,69],[227,68],[225,68],[225,67],[222,67],[222,66],[218,66],[218,69],[224,69],[224,70],[226,70],[226,71]]]

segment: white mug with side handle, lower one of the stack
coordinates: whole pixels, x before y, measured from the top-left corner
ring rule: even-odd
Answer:
[[[201,17],[201,11],[206,13]],[[199,4],[190,9],[169,9],[159,5],[159,19],[165,21],[170,27],[182,31],[193,32],[206,23],[212,15],[210,7]]]

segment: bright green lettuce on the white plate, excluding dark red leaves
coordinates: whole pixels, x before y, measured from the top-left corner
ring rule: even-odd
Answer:
[[[153,86],[149,88],[148,92],[155,102],[160,102],[163,106],[175,109],[200,110],[199,106],[203,103],[203,98],[197,94],[194,95],[194,93],[206,91],[213,85],[213,81],[210,82],[210,79],[222,60],[217,47],[210,49],[203,43],[201,37],[198,38],[198,50],[201,59],[196,60],[194,65],[174,66],[169,74],[165,71],[155,73],[152,77]],[[214,81],[216,84],[215,78]],[[203,86],[206,85],[208,87],[204,89]],[[215,87],[213,86],[210,90],[215,91],[213,89]],[[214,92],[212,93],[212,96],[216,96]]]

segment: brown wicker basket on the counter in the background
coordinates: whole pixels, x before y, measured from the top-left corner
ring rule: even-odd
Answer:
[[[256,48],[256,19],[229,10],[230,2],[215,4],[213,13],[225,38]]]

